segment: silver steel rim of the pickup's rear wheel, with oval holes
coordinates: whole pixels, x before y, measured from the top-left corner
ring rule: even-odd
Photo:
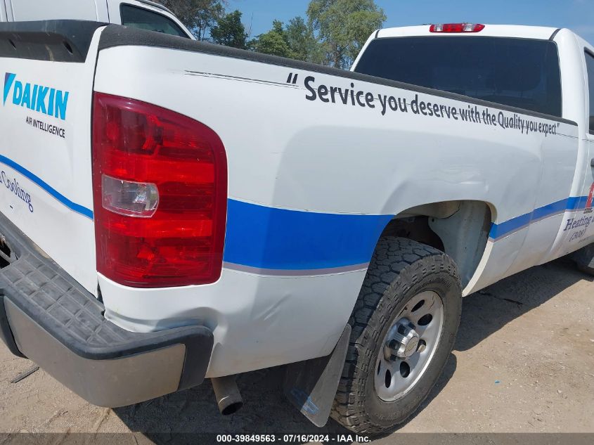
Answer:
[[[406,302],[388,329],[375,361],[375,393],[380,399],[395,401],[415,386],[437,351],[443,325],[444,304],[437,292],[420,292]],[[405,356],[396,356],[396,350]]]

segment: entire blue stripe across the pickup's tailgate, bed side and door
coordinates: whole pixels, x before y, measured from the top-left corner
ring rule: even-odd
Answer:
[[[22,165],[0,155],[11,167],[84,217],[93,211],[72,202]],[[489,238],[498,240],[530,224],[586,207],[587,196],[575,196],[534,209],[501,224],[491,224]],[[307,271],[368,263],[377,238],[392,215],[354,215],[276,209],[229,199],[224,261],[257,269]]]

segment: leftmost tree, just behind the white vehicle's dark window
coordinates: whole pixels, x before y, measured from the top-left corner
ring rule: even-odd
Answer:
[[[225,13],[225,0],[160,0],[188,27],[198,40],[206,40],[208,30]]]

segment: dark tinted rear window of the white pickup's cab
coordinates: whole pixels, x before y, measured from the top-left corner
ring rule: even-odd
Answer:
[[[373,40],[356,72],[561,117],[552,41],[504,37]]]

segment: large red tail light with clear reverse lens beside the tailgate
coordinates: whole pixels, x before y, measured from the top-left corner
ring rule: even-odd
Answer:
[[[95,93],[97,270],[137,288],[221,275],[227,162],[212,129],[171,110]]]

